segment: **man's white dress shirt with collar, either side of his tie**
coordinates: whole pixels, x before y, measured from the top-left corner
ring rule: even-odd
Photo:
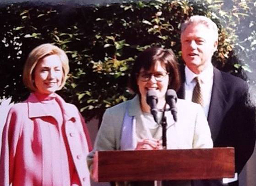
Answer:
[[[204,99],[204,105],[202,108],[204,109],[205,116],[208,117],[212,85],[214,84],[214,67],[210,63],[200,74],[195,74],[187,66],[185,67],[185,99],[187,100],[192,100],[193,90],[196,84],[194,78],[197,76],[201,80],[202,98]]]

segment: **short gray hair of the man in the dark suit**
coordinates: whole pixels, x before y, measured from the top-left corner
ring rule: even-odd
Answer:
[[[191,16],[189,19],[187,19],[184,23],[182,23],[181,26],[181,31],[183,33],[184,30],[186,30],[186,28],[190,25],[190,24],[204,24],[204,26],[206,26],[207,28],[209,28],[210,30],[212,30],[212,32],[214,33],[214,39],[215,41],[218,41],[218,27],[217,25],[208,17],[205,16],[199,16],[199,15],[195,15],[195,16]]]

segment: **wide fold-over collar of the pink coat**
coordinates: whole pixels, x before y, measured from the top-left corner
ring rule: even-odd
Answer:
[[[79,117],[77,114],[77,109],[74,108],[72,104],[66,103],[64,99],[61,98],[58,94],[55,94],[55,100],[61,106],[61,110],[63,112],[63,117],[65,120],[71,120]],[[29,108],[29,118],[33,117],[44,117],[44,116],[52,116],[52,113],[47,110],[45,107],[45,103],[40,102],[35,96],[34,93],[30,94],[29,98],[27,99],[27,104]]]

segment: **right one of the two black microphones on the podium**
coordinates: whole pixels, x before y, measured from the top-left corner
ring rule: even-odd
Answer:
[[[175,122],[177,122],[177,94],[175,90],[168,89],[165,94],[165,100],[170,105],[170,112],[172,113],[173,119]]]

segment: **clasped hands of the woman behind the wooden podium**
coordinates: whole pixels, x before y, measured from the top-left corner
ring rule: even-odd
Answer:
[[[152,139],[145,139],[139,141],[135,150],[158,150],[162,149],[162,141]]]

